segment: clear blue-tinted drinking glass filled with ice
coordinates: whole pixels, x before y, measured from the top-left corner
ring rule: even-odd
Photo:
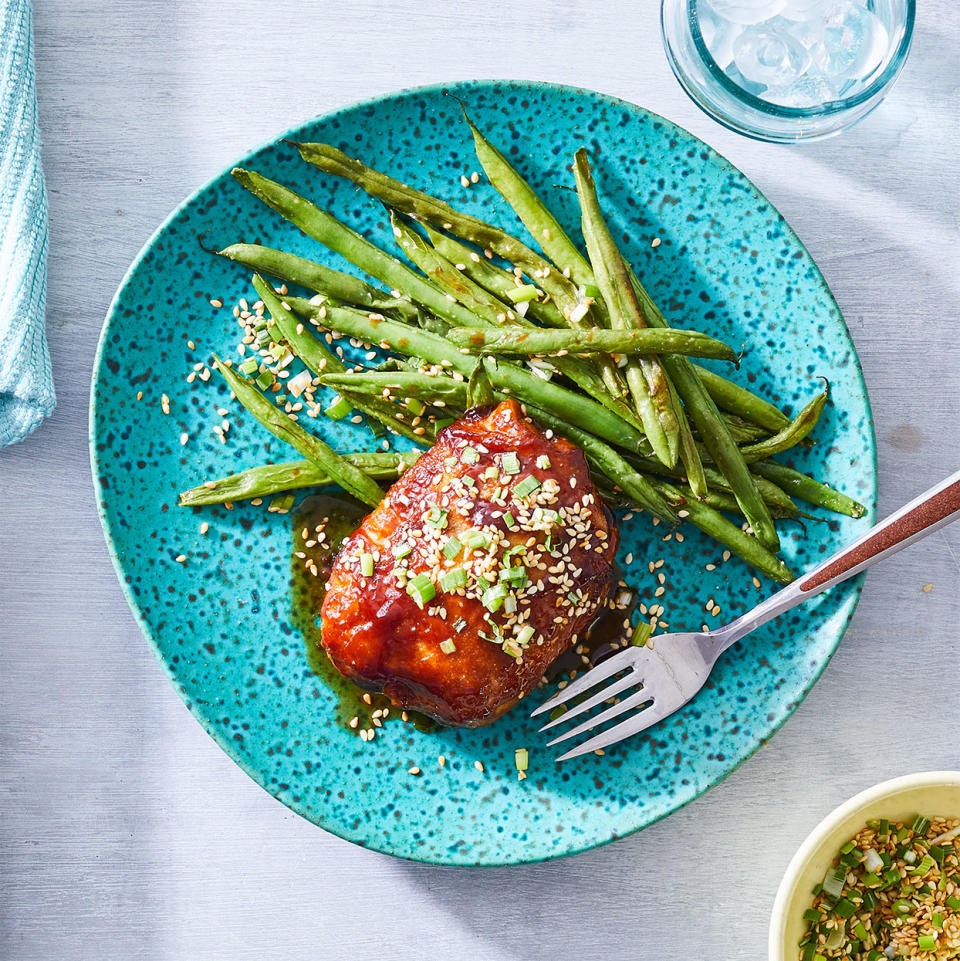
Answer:
[[[662,0],[670,67],[694,103],[758,140],[838,133],[886,96],[915,0]]]

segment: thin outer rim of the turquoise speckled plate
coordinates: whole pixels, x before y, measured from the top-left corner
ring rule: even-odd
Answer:
[[[304,127],[319,123],[321,121],[329,121],[335,119],[338,115],[352,113],[356,110],[362,110],[364,108],[377,106],[380,103],[388,100],[396,100],[404,97],[411,97],[417,95],[429,95],[435,93],[442,93],[451,87],[514,87],[514,88],[532,88],[534,90],[550,90],[556,93],[565,93],[568,95],[582,97],[588,96],[592,98],[599,98],[600,100],[607,101],[608,103],[626,109],[628,111],[639,111],[645,114],[647,117],[654,121],[660,121],[669,127],[675,128],[684,134],[686,137],[691,138],[695,141],[703,150],[706,150],[712,155],[717,161],[719,161],[721,167],[726,172],[735,172],[739,177],[750,186],[750,188],[759,196],[766,204],[769,205],[770,209],[776,214],[780,221],[781,226],[787,233],[788,237],[796,243],[800,250],[803,251],[804,257],[807,262],[812,266],[816,281],[820,292],[824,295],[828,304],[832,304],[839,320],[839,332],[841,336],[846,340],[849,347],[850,354],[853,360],[853,370],[856,375],[856,381],[860,388],[860,392],[863,396],[863,402],[866,412],[867,424],[869,425],[869,439],[870,439],[870,470],[869,470],[869,497],[867,502],[864,504],[866,507],[866,512],[863,515],[863,519],[866,522],[875,522],[876,511],[877,511],[877,438],[876,438],[876,425],[873,417],[873,409],[870,403],[870,395],[867,391],[866,379],[863,374],[863,367],[860,362],[860,356],[857,353],[856,345],[854,344],[853,337],[850,333],[850,328],[847,326],[846,318],[843,316],[843,312],[840,310],[840,306],[833,296],[833,292],[830,289],[826,278],[823,276],[819,265],[814,260],[809,250],[807,250],[806,244],[800,239],[796,231],[787,221],[787,219],[780,212],[780,209],[770,200],[769,197],[753,182],[753,180],[747,176],[739,167],[727,159],[727,157],[720,153],[715,147],[708,144],[706,141],[702,140],[696,134],[691,133],[685,127],[680,126],[673,120],[662,116],[650,110],[647,107],[643,107],[640,104],[633,103],[629,100],[624,100],[621,97],[616,97],[612,94],[602,93],[598,90],[593,90],[589,87],[576,86],[573,84],[563,84],[563,83],[553,83],[549,81],[542,80],[522,80],[522,79],[492,79],[492,78],[482,78],[482,79],[459,79],[459,80],[447,80],[437,83],[422,84],[413,87],[402,87],[395,90],[390,90],[385,93],[376,94],[372,97],[366,97],[361,100],[352,101],[350,103],[344,104],[343,106],[334,107],[331,110],[324,111],[323,113],[316,114],[312,117],[308,117],[300,122],[287,127],[280,133],[261,141],[253,148],[247,150],[245,153],[240,155],[236,160],[227,164],[218,170],[211,177],[207,178],[202,184],[192,190],[180,203],[178,203],[169,214],[161,221],[161,223],[156,227],[156,229],[150,234],[147,240],[144,242],[143,246],[138,251],[137,255],[131,261],[130,266],[124,272],[120,283],[114,292],[113,297],[110,300],[110,304],[107,307],[106,314],[104,316],[103,325],[100,329],[100,335],[97,340],[97,349],[93,360],[93,370],[90,382],[90,397],[88,404],[88,421],[87,421],[87,444],[90,456],[90,468],[93,480],[94,495],[97,507],[97,517],[100,521],[100,527],[103,531],[104,539],[107,545],[107,552],[110,555],[110,560],[113,565],[114,573],[117,576],[117,580],[120,583],[120,588],[123,593],[124,599],[133,614],[134,620],[140,629],[140,633],[143,635],[144,639],[147,641],[154,657],[159,662],[167,678],[170,680],[174,690],[177,695],[183,701],[190,715],[194,720],[200,724],[203,730],[209,735],[209,737],[214,741],[214,743],[227,755],[227,757],[233,761],[248,777],[253,780],[263,791],[269,794],[275,801],[278,801],[285,808],[292,811],[294,814],[302,817],[304,820],[311,824],[321,828],[324,831],[334,835],[335,837],[341,838],[344,841],[348,841],[352,844],[356,844],[358,847],[362,847],[366,850],[376,851],[381,854],[387,854],[391,857],[399,858],[401,860],[410,861],[419,864],[436,864],[443,866],[454,866],[454,867],[505,867],[508,865],[521,865],[521,864],[536,864],[544,861],[554,861],[563,857],[570,857],[575,854],[581,854],[586,851],[593,850],[595,848],[603,847],[607,844],[611,844],[614,841],[619,841],[624,838],[628,838],[639,831],[644,830],[664,818],[675,813],[688,804],[693,803],[699,798],[703,797],[711,788],[716,787],[722,781],[726,780],[730,775],[746,763],[750,758],[756,754],[756,752],[766,744],[793,716],[793,713],[797,710],[800,704],[806,699],[807,695],[810,693],[813,686],[822,676],[823,672],[826,670],[827,665],[833,659],[833,655],[836,653],[837,648],[840,646],[840,642],[843,640],[847,629],[850,626],[850,622],[853,619],[857,607],[860,602],[860,598],[863,593],[863,582],[866,577],[866,572],[863,572],[857,577],[853,578],[849,583],[852,590],[848,593],[848,596],[844,598],[842,605],[838,608],[838,613],[840,611],[844,612],[843,623],[837,630],[836,639],[832,642],[830,650],[827,652],[826,656],[823,658],[822,662],[817,666],[817,668],[812,672],[810,677],[804,683],[799,695],[793,699],[788,704],[784,705],[781,716],[779,716],[773,723],[772,726],[767,728],[766,733],[762,737],[756,739],[756,743],[747,751],[746,754],[736,764],[732,767],[722,771],[714,777],[707,778],[702,782],[698,782],[694,793],[682,801],[672,802],[671,806],[663,811],[656,817],[643,819],[642,823],[638,824],[636,827],[629,831],[616,833],[611,832],[608,836],[603,838],[590,839],[587,841],[575,841],[571,844],[564,846],[561,850],[551,851],[540,856],[525,857],[521,855],[520,857],[508,857],[502,859],[495,858],[477,858],[477,857],[467,857],[465,859],[458,859],[457,857],[440,859],[436,856],[431,856],[430,852],[425,852],[423,856],[418,856],[417,854],[403,854],[392,850],[389,841],[382,842],[378,838],[374,839],[362,839],[361,837],[351,836],[349,830],[341,825],[339,822],[331,821],[323,818],[322,812],[317,812],[316,816],[310,816],[307,813],[298,810],[291,803],[278,796],[277,793],[270,790],[270,788],[265,783],[265,779],[260,776],[260,772],[255,770],[251,763],[249,763],[242,752],[238,750],[235,742],[222,736],[221,732],[215,728],[208,720],[202,715],[198,714],[193,710],[191,698],[183,687],[177,681],[174,674],[172,666],[169,664],[165,654],[160,648],[157,639],[154,637],[152,630],[147,624],[145,618],[140,612],[140,609],[135,601],[132,591],[126,582],[126,577],[124,570],[120,563],[119,551],[114,540],[113,532],[110,529],[108,523],[105,497],[103,486],[100,483],[100,458],[97,451],[97,438],[96,438],[96,418],[97,418],[97,396],[99,382],[101,379],[101,374],[104,366],[104,358],[106,355],[106,343],[107,335],[113,320],[117,314],[117,309],[121,303],[122,297],[126,292],[127,287],[133,279],[134,274],[140,267],[140,264],[144,258],[150,253],[160,236],[164,233],[167,227],[173,223],[174,220],[191,204],[193,204],[196,199],[206,190],[211,188],[217,181],[221,180],[225,175],[229,174],[229,171],[236,166],[243,165],[250,158],[259,154],[261,151],[275,146],[276,143],[284,138],[292,139],[297,131],[302,130]]]

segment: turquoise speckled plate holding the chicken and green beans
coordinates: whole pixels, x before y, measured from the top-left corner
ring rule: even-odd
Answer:
[[[796,411],[819,388],[818,376],[829,379],[832,402],[798,466],[857,497],[870,514],[831,516],[809,523],[806,533],[784,524],[787,560],[803,569],[865,529],[875,502],[875,444],[857,356],[816,265],[750,181],[676,125],[611,97],[516,82],[447,89],[571,228],[575,197],[555,185],[572,183],[576,147],[596,151],[604,206],[650,291],[678,326],[746,344],[740,376],[765,396]],[[478,164],[457,105],[442,90],[357,104],[288,136],[330,141],[470,212],[517,226],[489,185],[460,186],[460,175]],[[389,244],[379,204],[300,162],[279,138],[242,163]],[[555,765],[523,710],[475,731],[420,733],[390,722],[369,744],[338,726],[332,695],[311,672],[293,626],[289,518],[249,504],[176,506],[178,491],[204,479],[296,457],[238,411],[218,378],[185,381],[212,352],[234,351],[236,322],[210,299],[231,305],[251,291],[243,270],[201,250],[204,231],[219,245],[261,241],[344,266],[253,200],[228,171],[189,197],[137,257],[110,307],[91,400],[93,473],[107,542],[144,634],[189,709],[267,791],[328,831],[401,857],[534,861],[664,817],[729,774],[789,716],[835,650],[858,582],[757,631],[722,659],[684,711],[603,758]],[[218,407],[230,409],[225,444],[213,432]],[[340,449],[371,445],[364,425],[311,423]],[[644,517],[624,523],[620,559],[649,604],[657,584],[648,562],[665,558],[661,600],[671,628],[700,625],[707,597],[722,619],[773,590],[755,587],[737,560],[721,563],[717,546],[696,531],[685,531],[682,543],[664,543],[665,533]],[[185,563],[175,560],[180,554]],[[705,570],[710,563],[716,570]],[[522,782],[514,769],[519,747],[530,751]],[[420,777],[408,774],[412,765],[422,768]]]

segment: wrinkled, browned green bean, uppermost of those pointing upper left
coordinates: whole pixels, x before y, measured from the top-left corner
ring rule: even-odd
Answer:
[[[552,267],[549,261],[525,243],[477,217],[460,213],[448,203],[402,184],[399,180],[366,166],[330,144],[297,144],[300,156],[325,173],[345,177],[368,194],[403,213],[450,231],[484,250],[520,267],[557,302],[564,317],[577,306],[576,285]],[[368,271],[369,273],[369,271]]]

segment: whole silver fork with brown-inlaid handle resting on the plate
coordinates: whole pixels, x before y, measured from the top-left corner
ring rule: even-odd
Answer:
[[[960,515],[960,471],[931,487],[896,513],[870,528],[832,557],[789,586],[768,597],[753,610],[713,631],[690,634],[662,634],[644,647],[628,647],[602,661],[572,681],[555,697],[538,707],[531,716],[568,704],[604,681],[614,678],[596,693],[570,707],[540,730],[547,731],[611,699],[614,703],[588,717],[547,745],[559,744],[585,734],[630,712],[613,727],[562,754],[557,761],[579,757],[616,744],[645,731],[679,711],[706,683],[717,659],[754,628],[796,607],[797,604],[829,590],[835,584],[866,570],[877,561],[895,554],[908,544],[939,530]],[[623,675],[618,677],[618,675]],[[636,688],[636,690],[632,690]],[[631,692],[632,693],[628,693]]]

